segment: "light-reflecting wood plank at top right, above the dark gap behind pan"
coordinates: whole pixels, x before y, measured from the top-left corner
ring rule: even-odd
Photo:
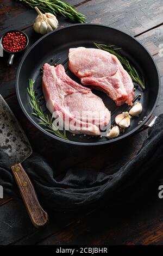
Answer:
[[[161,0],[92,0],[78,10],[87,22],[108,25],[130,35],[140,34],[163,22]]]

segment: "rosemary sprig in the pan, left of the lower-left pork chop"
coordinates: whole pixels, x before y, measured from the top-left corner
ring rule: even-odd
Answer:
[[[28,94],[30,97],[30,106],[32,107],[32,109],[34,111],[34,113],[32,113],[32,114],[41,119],[41,122],[39,122],[38,124],[46,126],[46,129],[45,129],[46,131],[53,132],[56,136],[58,136],[62,139],[67,139],[66,131],[65,130],[59,131],[57,129],[54,130],[54,124],[52,122],[53,118],[50,117],[48,114],[45,115],[43,113],[43,110],[40,106],[40,102],[35,96],[35,90],[33,88],[34,83],[35,83],[35,81],[33,81],[32,79],[29,79],[29,86],[27,88]]]

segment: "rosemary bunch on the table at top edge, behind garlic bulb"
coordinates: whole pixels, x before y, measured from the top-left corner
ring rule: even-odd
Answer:
[[[32,8],[39,8],[45,13],[52,13],[54,15],[62,15],[68,17],[74,22],[85,23],[86,16],[79,13],[73,5],[60,0],[19,0],[25,2]]]

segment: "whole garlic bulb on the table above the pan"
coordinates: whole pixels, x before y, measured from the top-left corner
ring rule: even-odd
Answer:
[[[39,14],[34,22],[33,28],[36,33],[45,35],[48,32],[53,31],[58,27],[57,18],[51,13],[42,14],[39,8],[35,7],[35,10]]]

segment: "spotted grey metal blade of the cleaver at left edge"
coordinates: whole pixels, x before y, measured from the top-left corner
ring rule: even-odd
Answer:
[[[0,148],[9,155],[10,166],[22,163],[33,153],[26,134],[1,94]]]

